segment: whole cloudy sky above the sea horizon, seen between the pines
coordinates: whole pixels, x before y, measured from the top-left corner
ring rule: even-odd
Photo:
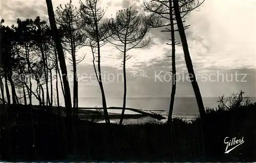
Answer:
[[[54,9],[67,2],[53,0]],[[73,3],[78,5],[78,1]],[[131,6],[143,13],[139,3],[140,0],[102,0],[101,7],[106,9],[105,17],[110,18],[118,10]],[[2,0],[0,10],[0,17],[6,20],[5,25],[13,24],[16,18],[35,18],[37,15],[48,19],[43,0]],[[205,0],[199,11],[193,11],[187,17],[185,25],[191,26],[186,30],[186,36],[203,98],[228,95],[241,89],[248,96],[256,96],[255,20],[254,0]],[[132,57],[126,64],[127,97],[170,96],[172,82],[168,77],[172,62],[167,56],[170,55],[171,48],[165,44],[170,35],[160,31],[161,29],[150,31],[150,45],[129,52]],[[178,33],[176,39],[180,41]],[[81,48],[78,55],[83,54],[87,55],[78,66],[78,74],[89,78],[79,79],[79,97],[100,97],[98,84],[94,81],[90,49]],[[120,97],[123,95],[122,54],[111,44],[103,46],[101,54],[106,97]],[[177,97],[193,97],[193,88],[186,80],[181,44],[177,45],[176,62],[177,73],[181,77],[177,83]],[[71,70],[71,66],[68,69]],[[112,81],[110,76],[115,79]],[[72,80],[70,81],[72,87]]]

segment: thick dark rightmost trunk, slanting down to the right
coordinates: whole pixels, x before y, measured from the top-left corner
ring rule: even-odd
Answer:
[[[204,104],[203,104],[202,96],[201,96],[201,93],[200,93],[200,89],[199,89],[199,86],[198,86],[198,83],[197,83],[197,80],[196,80],[196,76],[195,76],[195,72],[194,72],[194,68],[193,68],[193,63],[191,61],[189,50],[188,50],[186,34],[185,34],[184,26],[183,26],[183,23],[182,23],[182,19],[181,19],[181,16],[180,16],[179,2],[178,2],[178,0],[173,0],[173,3],[174,3],[174,11],[175,11],[175,17],[176,17],[176,21],[177,21],[177,26],[178,26],[178,29],[179,29],[182,48],[183,48],[183,52],[184,52],[184,58],[185,58],[186,66],[187,66],[187,71],[188,71],[188,74],[190,76],[190,81],[191,81],[191,84],[193,86],[195,96],[196,96],[196,99],[197,99],[197,104],[198,104],[198,108],[199,108],[200,117],[201,117],[202,120],[204,120],[206,112],[205,112],[205,109],[204,109]]]

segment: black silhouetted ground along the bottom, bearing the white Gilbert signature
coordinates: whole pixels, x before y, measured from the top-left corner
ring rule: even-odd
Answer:
[[[207,127],[204,129],[199,118],[189,123],[173,119],[172,134],[169,125],[160,123],[120,126],[74,120],[76,150],[70,153],[69,157],[66,148],[69,142],[66,142],[63,125],[66,119],[36,108],[1,105],[1,160],[256,160],[256,104],[231,110],[208,110],[207,122],[204,124]],[[206,135],[204,140],[202,132]],[[244,137],[244,143],[225,154],[225,137]]]

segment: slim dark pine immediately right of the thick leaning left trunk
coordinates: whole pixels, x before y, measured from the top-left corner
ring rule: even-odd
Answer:
[[[71,54],[71,64],[73,65],[73,108],[74,113],[78,115],[78,80],[77,80],[77,65],[84,59],[77,58],[76,52],[85,44],[86,37],[81,34],[81,27],[78,26],[78,21],[81,19],[79,9],[72,5],[72,1],[61,5],[56,10],[56,22],[60,26],[60,33],[63,35],[62,42],[64,49]]]

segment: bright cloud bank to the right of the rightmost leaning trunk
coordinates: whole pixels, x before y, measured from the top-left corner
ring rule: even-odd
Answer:
[[[252,5],[254,4],[254,5]],[[255,67],[256,4],[252,1],[206,1],[187,23],[191,57],[198,66]]]

